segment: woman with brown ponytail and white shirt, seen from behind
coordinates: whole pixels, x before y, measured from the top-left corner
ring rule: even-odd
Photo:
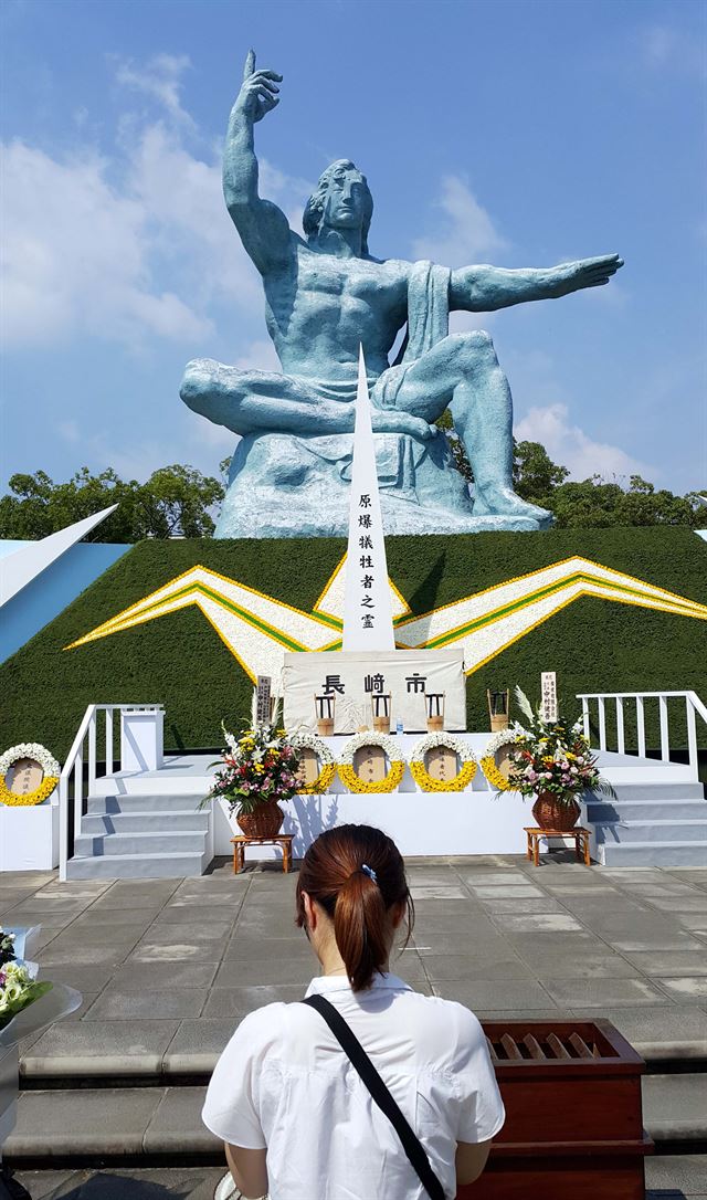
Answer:
[[[453,1200],[481,1174],[504,1111],[462,1004],[389,970],[413,901],[395,844],[338,826],[305,854],[296,924],[322,973],[304,1003],[251,1013],[221,1055],[204,1123],[247,1200]],[[240,1190],[239,1190],[240,1189]]]

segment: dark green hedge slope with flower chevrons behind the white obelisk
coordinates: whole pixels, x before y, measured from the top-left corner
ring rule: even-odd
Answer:
[[[390,538],[387,545],[390,576],[414,613],[573,554],[705,601],[707,545],[683,528]],[[0,666],[0,748],[38,740],[62,757],[91,702],[161,702],[167,746],[218,745],[221,719],[240,721],[251,685],[198,610],[64,647],[197,563],[310,611],[344,550],[341,539],[140,542]],[[468,727],[489,727],[486,688],[520,683],[535,696],[544,670],[557,672],[570,712],[579,691],[694,689],[707,698],[707,622],[576,600],[469,677]],[[655,743],[653,721],[649,734]],[[671,736],[684,738],[684,730],[671,726]]]

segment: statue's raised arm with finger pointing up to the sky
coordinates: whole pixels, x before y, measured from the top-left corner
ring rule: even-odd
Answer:
[[[248,50],[242,85],[230,110],[223,152],[223,196],[246,253],[262,275],[288,254],[290,229],[276,204],[258,196],[258,160],[253,149],[253,125],[280,103],[276,71],[256,71]]]

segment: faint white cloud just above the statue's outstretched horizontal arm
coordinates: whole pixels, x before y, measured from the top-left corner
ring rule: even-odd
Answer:
[[[496,229],[486,209],[459,175],[443,178],[435,208],[443,212],[441,228],[435,234],[415,240],[415,258],[431,258],[445,266],[467,266],[507,247],[505,238]]]

